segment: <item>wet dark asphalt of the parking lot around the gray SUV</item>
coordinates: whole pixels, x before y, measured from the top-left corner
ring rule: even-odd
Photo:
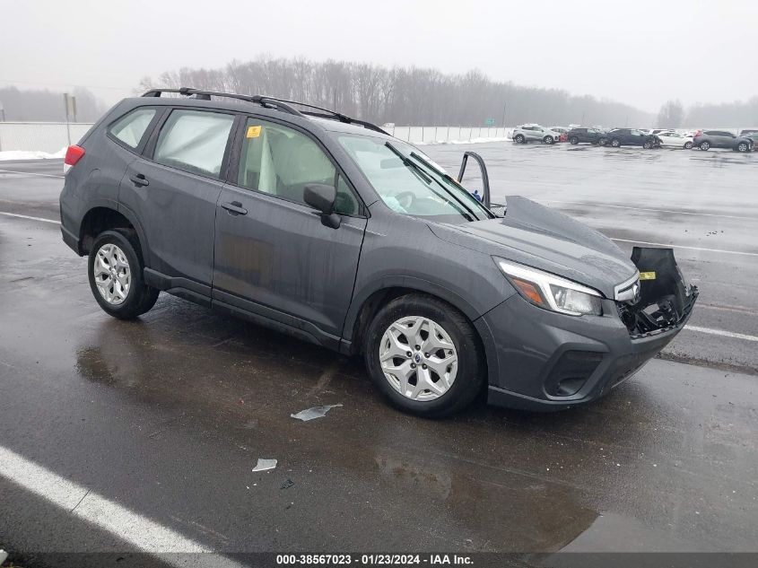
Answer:
[[[166,294],[111,319],[56,224],[0,214],[0,446],[222,552],[758,551],[758,153],[424,147],[451,172],[464,150],[493,200],[536,199],[623,249],[687,247],[691,325],[710,331],[588,406],[423,420],[360,360]],[[0,211],[57,220],[62,180],[39,174],[60,172],[0,162]],[[29,565],[134,549],[3,476],[0,548]]]

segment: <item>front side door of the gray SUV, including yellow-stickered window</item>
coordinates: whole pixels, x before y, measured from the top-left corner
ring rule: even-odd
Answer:
[[[318,141],[292,125],[246,118],[218,200],[213,301],[338,341],[353,297],[366,217]],[[303,201],[309,183],[336,185],[333,229]]]

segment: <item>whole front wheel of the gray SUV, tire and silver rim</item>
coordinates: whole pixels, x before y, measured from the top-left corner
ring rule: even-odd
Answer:
[[[414,415],[459,412],[484,383],[474,327],[448,303],[423,293],[401,296],[379,310],[366,334],[364,358],[379,390]]]

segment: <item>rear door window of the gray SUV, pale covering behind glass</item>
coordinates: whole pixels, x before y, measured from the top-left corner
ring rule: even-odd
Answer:
[[[218,179],[233,122],[234,117],[220,112],[173,110],[161,128],[153,160]]]

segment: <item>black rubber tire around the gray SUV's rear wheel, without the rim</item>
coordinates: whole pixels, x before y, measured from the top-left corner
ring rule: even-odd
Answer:
[[[94,263],[97,259],[98,251],[105,244],[118,246],[124,252],[129,265],[131,278],[129,291],[126,293],[126,299],[119,304],[109,303],[100,293],[98,285],[95,284]],[[144,284],[144,262],[139,250],[139,242],[136,240],[134,232],[126,229],[101,232],[92,243],[89,261],[87,262],[87,276],[90,281],[92,295],[100,304],[100,308],[114,318],[135,319],[137,316],[150,310],[155,305],[155,301],[158,300],[160,291]]]

